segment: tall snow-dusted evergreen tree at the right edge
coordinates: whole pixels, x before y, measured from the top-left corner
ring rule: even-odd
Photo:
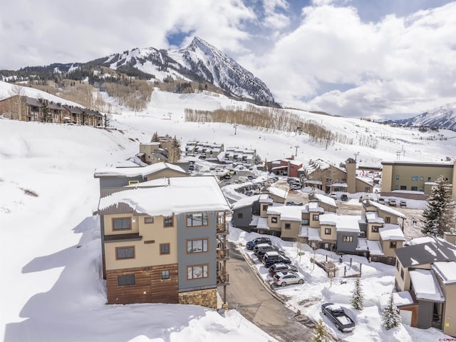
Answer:
[[[425,226],[422,229],[427,236],[443,236],[455,226],[455,201],[451,197],[452,187],[444,176],[440,176],[432,186],[423,211]]]

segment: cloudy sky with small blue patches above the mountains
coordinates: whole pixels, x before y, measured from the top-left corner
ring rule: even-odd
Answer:
[[[16,0],[1,7],[0,69],[177,49],[199,36],[284,106],[372,116],[456,104],[456,1]]]

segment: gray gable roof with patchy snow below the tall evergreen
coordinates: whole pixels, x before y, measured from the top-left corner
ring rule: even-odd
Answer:
[[[396,248],[395,253],[405,268],[438,261],[456,261],[456,246],[440,239]]]

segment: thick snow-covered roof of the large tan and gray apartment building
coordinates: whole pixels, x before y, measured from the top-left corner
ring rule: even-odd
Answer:
[[[167,186],[132,188],[100,198],[98,210],[125,203],[137,213],[169,216],[194,211],[229,211],[229,204],[214,177],[167,178]]]

